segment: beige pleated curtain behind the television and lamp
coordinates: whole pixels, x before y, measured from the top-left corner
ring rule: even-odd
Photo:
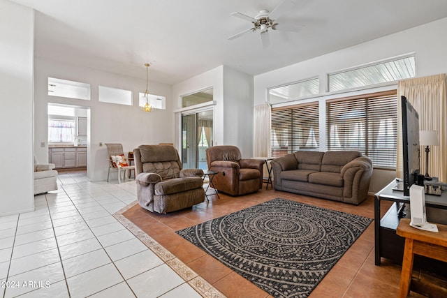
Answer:
[[[439,146],[430,147],[430,176],[447,181],[447,95],[446,74],[402,80],[397,85],[397,165],[396,177],[403,177],[401,96],[405,96],[419,114],[420,131],[437,131]],[[425,174],[425,148],[420,147],[420,169]]]

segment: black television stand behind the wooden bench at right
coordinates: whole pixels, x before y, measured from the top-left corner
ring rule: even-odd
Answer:
[[[374,195],[374,253],[377,266],[380,265],[381,258],[402,264],[405,240],[396,234],[396,230],[400,218],[410,218],[410,197],[405,196],[402,191],[393,191],[396,184],[397,182],[393,180]],[[381,200],[394,202],[383,218],[381,218]],[[442,192],[440,196],[426,194],[425,209],[427,221],[446,225],[447,192]],[[447,276],[446,263],[437,260],[415,258],[414,267]]]

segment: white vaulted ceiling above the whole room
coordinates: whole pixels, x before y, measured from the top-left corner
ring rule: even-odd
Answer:
[[[13,0],[36,9],[37,57],[175,84],[220,65],[258,75],[447,17],[445,0],[294,0],[277,19],[298,32],[229,36],[282,0]],[[404,53],[402,53],[404,54]],[[386,58],[386,57],[384,57]]]

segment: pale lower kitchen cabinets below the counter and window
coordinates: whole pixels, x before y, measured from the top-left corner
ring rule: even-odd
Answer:
[[[86,147],[50,147],[48,151],[49,163],[57,169],[87,167]]]

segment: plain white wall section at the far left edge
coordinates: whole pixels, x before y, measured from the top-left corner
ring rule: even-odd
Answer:
[[[34,10],[0,0],[0,216],[34,210]]]

